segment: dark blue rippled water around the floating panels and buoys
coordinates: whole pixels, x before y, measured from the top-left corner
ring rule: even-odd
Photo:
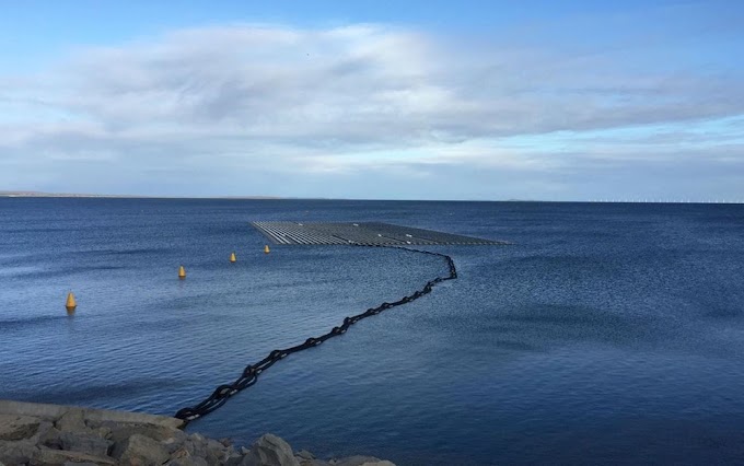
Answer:
[[[744,206],[0,199],[0,398],[172,415],[446,273],[379,248],[264,255],[255,220],[516,244],[432,248],[457,280],[189,429],[402,465],[744,461]]]

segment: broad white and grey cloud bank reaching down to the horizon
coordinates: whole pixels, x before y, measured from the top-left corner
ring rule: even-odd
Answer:
[[[735,195],[741,70],[649,67],[633,47],[237,24],[79,48],[0,77],[0,186],[570,199],[729,183],[721,194]],[[720,170],[696,184],[700,164]]]

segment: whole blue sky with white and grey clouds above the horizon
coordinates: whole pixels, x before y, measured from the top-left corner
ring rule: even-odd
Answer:
[[[0,5],[0,190],[744,201],[739,0]]]

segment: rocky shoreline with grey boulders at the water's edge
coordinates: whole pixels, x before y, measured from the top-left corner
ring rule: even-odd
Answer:
[[[270,433],[246,448],[182,428],[165,416],[0,400],[0,466],[395,466],[371,456],[318,459]]]

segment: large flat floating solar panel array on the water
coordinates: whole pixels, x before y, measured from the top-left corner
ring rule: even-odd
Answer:
[[[381,222],[253,222],[275,244],[447,245],[509,244]]]

